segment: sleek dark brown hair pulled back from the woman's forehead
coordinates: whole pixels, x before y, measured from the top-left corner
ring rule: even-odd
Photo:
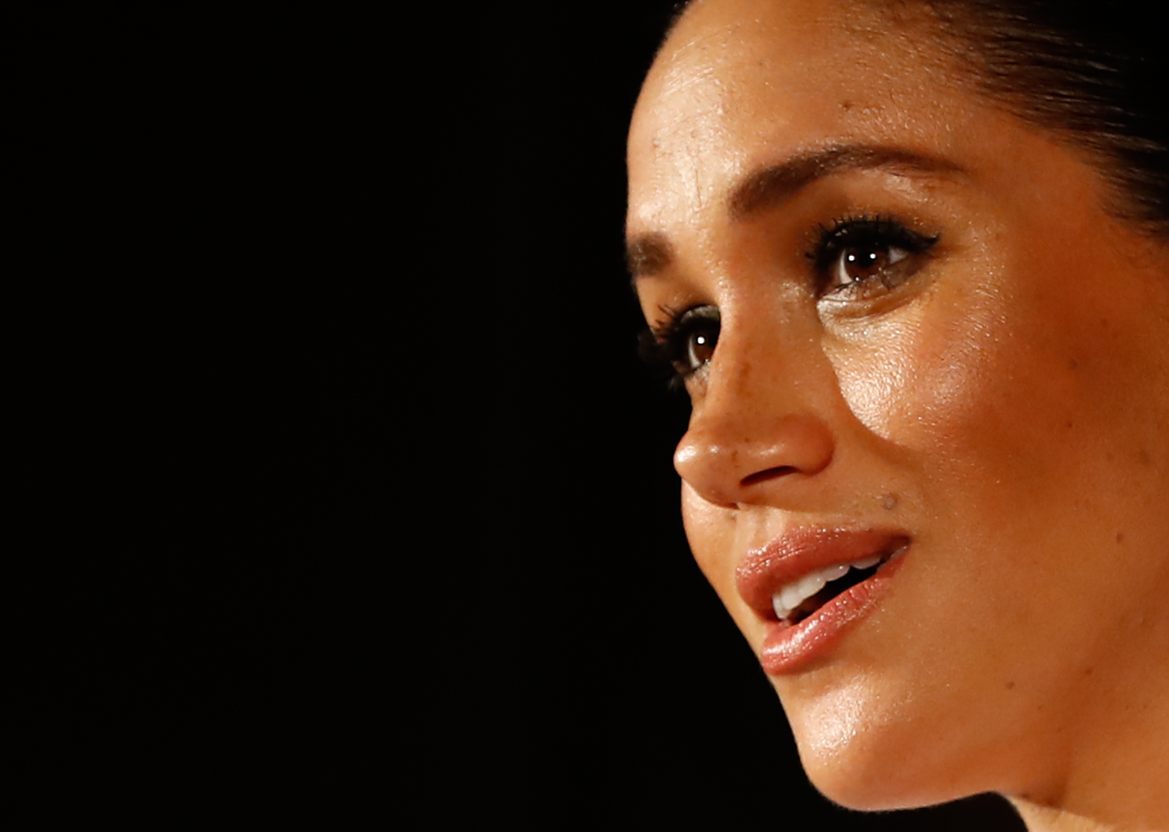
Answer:
[[[985,96],[1087,151],[1113,213],[1169,238],[1169,14],[1125,0],[925,2]]]

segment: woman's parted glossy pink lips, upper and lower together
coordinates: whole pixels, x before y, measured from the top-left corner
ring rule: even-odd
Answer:
[[[747,552],[735,584],[767,623],[763,669],[782,675],[826,655],[887,593],[908,548],[899,530],[805,528]]]

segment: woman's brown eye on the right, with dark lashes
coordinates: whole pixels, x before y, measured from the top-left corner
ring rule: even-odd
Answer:
[[[897,220],[862,216],[822,227],[808,253],[816,297],[853,301],[893,289],[912,277],[938,242]]]

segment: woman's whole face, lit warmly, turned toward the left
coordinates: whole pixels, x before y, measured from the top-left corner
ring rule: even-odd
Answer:
[[[642,91],[686,531],[829,797],[1043,796],[1169,627],[1167,257],[867,8],[701,2]]]

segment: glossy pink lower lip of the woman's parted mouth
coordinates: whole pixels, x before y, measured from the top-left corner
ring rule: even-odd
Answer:
[[[905,561],[902,551],[877,572],[836,596],[800,624],[772,621],[767,626],[760,661],[769,676],[805,669],[830,653],[849,630],[872,613],[888,594],[890,582]]]

